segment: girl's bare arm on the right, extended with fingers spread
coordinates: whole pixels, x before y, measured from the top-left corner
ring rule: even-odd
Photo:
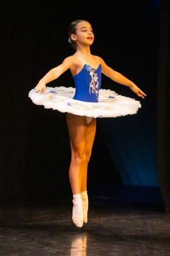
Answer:
[[[111,80],[120,83],[120,84],[124,84],[125,86],[128,86],[134,93],[136,93],[136,95],[138,95],[139,97],[145,99],[146,94],[141,91],[141,89],[136,86],[136,84],[134,84],[131,80],[127,79],[127,77],[123,76],[122,74],[120,74],[119,72],[113,70],[113,68],[109,67],[104,60],[97,56],[101,62],[101,72],[105,75],[110,77]]]

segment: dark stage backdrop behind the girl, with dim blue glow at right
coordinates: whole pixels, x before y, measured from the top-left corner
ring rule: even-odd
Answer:
[[[162,9],[160,1],[7,4],[1,9],[1,200],[71,197],[66,114],[34,105],[28,93],[48,70],[73,54],[67,27],[73,20],[85,19],[96,36],[92,54],[101,56],[147,95],[141,99],[103,75],[102,88],[140,100],[142,108],[137,115],[97,119],[89,194],[164,204],[157,163],[160,25],[167,22],[160,22],[166,12],[164,2]],[[47,86],[74,87],[71,72]]]

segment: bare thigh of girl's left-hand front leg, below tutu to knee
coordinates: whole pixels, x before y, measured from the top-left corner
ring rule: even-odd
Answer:
[[[87,130],[86,116],[66,113],[66,123],[69,132],[71,150],[83,152],[85,148],[85,134]]]

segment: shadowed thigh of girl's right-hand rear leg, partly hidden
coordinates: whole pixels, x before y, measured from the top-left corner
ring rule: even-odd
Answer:
[[[87,124],[87,129],[85,133],[85,151],[86,152],[92,151],[95,135],[96,135],[96,118],[93,118],[92,121],[89,124]]]

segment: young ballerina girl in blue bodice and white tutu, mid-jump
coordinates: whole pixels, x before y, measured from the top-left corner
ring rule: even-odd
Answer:
[[[52,68],[29,92],[35,104],[66,113],[71,145],[69,181],[73,193],[73,223],[82,227],[87,223],[87,166],[96,134],[96,117],[116,117],[134,114],[141,108],[139,101],[118,95],[111,90],[99,90],[101,73],[129,88],[142,99],[146,94],[122,74],[108,67],[99,56],[90,52],[94,42],[92,26],[87,20],[75,20],[69,26],[69,43],[75,53]],[[63,86],[46,88],[46,83],[71,70],[76,90]],[[74,96],[73,96],[74,95]]]

